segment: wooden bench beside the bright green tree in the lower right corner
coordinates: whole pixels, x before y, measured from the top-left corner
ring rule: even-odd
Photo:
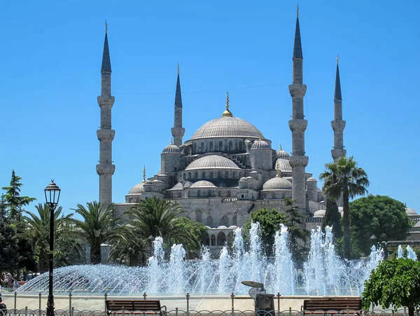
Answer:
[[[303,301],[303,315],[360,315],[362,299],[356,298],[312,298]]]

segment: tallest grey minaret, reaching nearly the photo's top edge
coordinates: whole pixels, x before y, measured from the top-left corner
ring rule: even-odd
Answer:
[[[293,200],[302,214],[306,214],[306,177],[305,167],[308,165],[308,156],[304,151],[304,131],[308,121],[304,119],[303,97],[307,86],[303,84],[303,55],[300,42],[299,6],[297,6],[295,45],[293,47],[293,83],[289,85],[289,92],[293,99],[292,119],[289,127],[292,132],[292,156],[290,166],[293,169]]]

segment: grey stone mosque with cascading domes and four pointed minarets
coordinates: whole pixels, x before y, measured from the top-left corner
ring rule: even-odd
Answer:
[[[325,197],[312,174],[306,171],[305,156],[303,55],[300,39],[299,16],[295,27],[293,46],[293,80],[288,86],[292,97],[292,115],[288,122],[292,133],[291,155],[272,142],[252,123],[234,116],[230,111],[229,95],[221,117],[204,123],[193,136],[183,140],[183,103],[178,71],[174,102],[173,142],[162,146],[161,167],[153,177],[135,184],[125,196],[125,202],[116,203],[116,216],[123,215],[136,203],[146,198],[158,197],[181,205],[187,216],[208,227],[203,243],[221,247],[229,233],[243,226],[253,210],[266,207],[285,211],[284,199],[293,198],[302,214],[307,216],[307,228],[318,226],[325,214]],[[112,161],[112,142],[115,130],[111,129],[111,60],[108,34],[105,34],[102,58],[102,93],[98,97],[101,125],[97,130],[100,142],[99,202],[112,201],[112,176],[116,166]],[[188,108],[187,108],[188,111]],[[335,79],[334,131],[332,158],[346,155],[342,119],[342,94],[339,65]],[[169,128],[169,127],[168,127]],[[279,147],[278,147],[279,146]],[[315,217],[314,217],[315,215]]]

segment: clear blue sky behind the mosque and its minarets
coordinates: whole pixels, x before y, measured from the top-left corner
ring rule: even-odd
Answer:
[[[307,172],[332,160],[335,57],[339,53],[344,144],[372,194],[420,211],[419,1],[300,0]],[[109,23],[113,200],[160,170],[172,137],[176,63],[184,140],[234,116],[291,151],[295,1],[3,1],[0,10],[1,170],[43,202],[50,179],[62,206],[98,198],[100,67]],[[321,186],[321,184],[319,184]],[[29,207],[33,209],[33,207]]]

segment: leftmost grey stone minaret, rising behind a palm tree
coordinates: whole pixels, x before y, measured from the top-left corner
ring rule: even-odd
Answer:
[[[112,141],[116,131],[111,129],[111,109],[115,99],[111,95],[111,60],[109,58],[108,25],[106,22],[101,76],[101,95],[98,97],[98,104],[101,108],[101,127],[97,130],[99,139],[97,174],[99,174],[99,202],[102,205],[108,205],[112,202],[112,175],[116,170],[112,161]]]

